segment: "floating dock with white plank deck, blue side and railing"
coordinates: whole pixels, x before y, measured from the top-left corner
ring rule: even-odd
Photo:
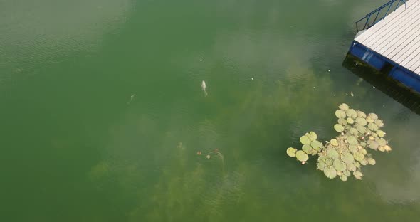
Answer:
[[[349,53],[420,93],[420,0],[392,0],[356,22]]]

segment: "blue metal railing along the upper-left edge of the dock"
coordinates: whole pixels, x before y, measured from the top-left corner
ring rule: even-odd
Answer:
[[[397,4],[394,4],[396,2]],[[391,0],[383,6],[380,6],[379,8],[375,9],[371,13],[364,16],[364,18],[360,19],[359,21],[356,21],[356,31],[359,32],[372,27],[378,21],[384,19],[389,12],[395,11],[399,6],[401,6],[401,3],[405,4],[405,7],[407,7],[406,1],[404,0]],[[385,11],[384,13],[382,9],[386,9],[387,11]]]

